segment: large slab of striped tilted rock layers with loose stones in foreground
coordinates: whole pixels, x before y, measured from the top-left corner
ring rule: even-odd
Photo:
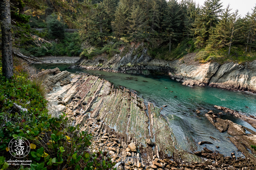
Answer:
[[[212,168],[207,162],[199,163],[201,159],[198,156],[203,154],[196,156],[179,146],[168,122],[160,114],[161,109],[154,107],[152,103],[146,106],[144,100],[132,91],[126,88],[116,89],[108,81],[96,76],[65,76],[51,86],[52,91],[47,95],[50,112],[59,114],[65,111],[73,124],[79,124],[81,130],[94,134],[94,151],[107,149],[116,162],[129,157],[128,162],[126,160],[123,164],[127,169]],[[152,142],[151,139],[155,141]],[[175,162],[164,159],[166,153],[173,153]],[[180,164],[180,159],[185,162]],[[232,165],[232,161],[229,160],[223,167]],[[241,167],[250,166],[248,161],[247,164],[241,164],[240,160],[238,163]],[[220,164],[211,165],[216,169],[222,167]]]

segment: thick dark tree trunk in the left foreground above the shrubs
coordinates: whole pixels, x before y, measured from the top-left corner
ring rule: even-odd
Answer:
[[[2,0],[0,3],[0,21],[2,21],[2,71],[3,75],[10,79],[13,76],[13,55],[12,55],[12,26],[10,0]]]

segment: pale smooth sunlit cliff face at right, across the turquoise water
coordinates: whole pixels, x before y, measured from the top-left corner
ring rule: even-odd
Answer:
[[[246,90],[256,92],[256,60],[248,63],[225,64],[192,62],[193,55],[169,63],[174,71],[170,77],[195,84],[205,84],[229,90]]]

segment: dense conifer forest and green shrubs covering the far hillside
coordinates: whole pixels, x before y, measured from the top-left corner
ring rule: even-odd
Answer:
[[[256,7],[240,17],[238,10],[230,12],[220,0],[206,0],[201,6],[191,0],[94,0],[69,5],[76,11],[68,16],[57,16],[58,10],[51,4],[44,12],[31,15],[25,25],[44,28],[43,33],[33,34],[48,42],[35,46],[34,40],[25,41],[19,43],[20,51],[34,56],[87,58],[106,52],[111,57],[119,53],[120,46],[146,42],[152,57],[167,60],[191,52],[198,52],[200,62],[256,59]],[[26,9],[30,10],[29,6]],[[65,33],[65,28],[79,31]]]

